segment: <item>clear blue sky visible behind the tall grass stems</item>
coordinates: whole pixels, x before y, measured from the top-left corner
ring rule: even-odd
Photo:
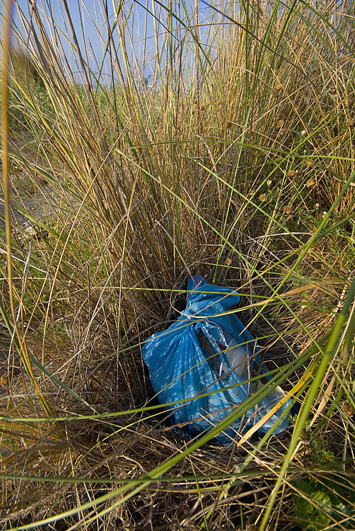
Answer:
[[[125,32],[127,41],[127,50],[130,51],[132,63],[136,64],[137,69],[144,71],[144,76],[149,75],[149,69],[154,62],[155,58],[155,30],[153,24],[153,0],[125,0],[124,11],[129,12],[129,23]],[[163,0],[165,5],[168,6],[168,0]],[[192,3],[191,3],[192,2]],[[87,60],[90,68],[93,72],[98,72],[100,68],[100,62],[103,59],[103,52],[105,50],[105,42],[107,41],[107,21],[103,9],[103,5],[107,4],[107,11],[110,14],[110,25],[112,26],[115,21],[115,8],[120,0],[67,0],[69,6],[70,16],[74,29],[76,31],[76,38],[78,44],[83,53],[84,59]],[[18,9],[23,11],[23,14],[30,21],[33,17],[31,13],[30,2],[28,0],[18,0]],[[113,5],[112,5],[113,4]],[[186,4],[190,11],[189,16],[192,18],[192,11],[194,0],[189,0]],[[71,69],[76,71],[76,75],[80,76],[81,67],[78,64],[77,58],[71,53],[71,45],[68,40],[68,35],[71,35],[69,24],[64,11],[62,0],[36,0],[36,6],[38,13],[47,28],[50,26],[55,27],[57,30],[58,39],[63,47],[63,54],[69,58]],[[167,33],[167,13],[156,1],[154,4],[156,9],[156,28],[159,34],[159,45],[162,45],[163,39]],[[179,10],[182,18],[185,18],[183,13],[184,4],[177,0],[174,6],[175,13],[179,14]],[[18,28],[21,28],[21,16],[19,16],[18,9],[14,10],[14,21]],[[199,21],[201,22],[209,11],[206,5],[199,3]],[[193,18],[192,18],[193,21]],[[21,33],[22,30],[21,30]],[[116,37],[115,42],[118,45],[117,29],[115,30]],[[178,38],[178,34],[176,34]],[[131,42],[129,42],[131,39]],[[72,38],[70,37],[71,42]],[[178,40],[175,39],[176,42]],[[144,42],[146,43],[144,46]],[[117,46],[119,49],[119,46]],[[86,51],[86,52],[85,52]],[[87,53],[87,56],[86,56]],[[120,60],[122,56],[120,56]],[[105,62],[104,62],[105,64]],[[107,68],[108,65],[105,65]],[[105,70],[105,68],[104,68]],[[107,68],[107,73],[104,74],[107,79],[110,77],[110,69]]]

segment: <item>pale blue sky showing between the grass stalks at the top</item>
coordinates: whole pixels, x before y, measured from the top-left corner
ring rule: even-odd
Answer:
[[[133,59],[132,63],[136,64],[137,69],[144,72],[144,77],[151,81],[153,77],[153,62],[156,53],[155,32],[158,33],[158,45],[163,48],[163,40],[168,34],[168,10],[170,4],[168,0],[163,2],[155,2],[152,6],[153,0],[128,0],[127,6],[131,9],[132,15],[127,23],[127,50],[130,51]],[[115,10],[120,3],[117,0],[67,0],[71,21],[76,32],[76,38],[81,50],[87,50],[85,57],[92,74],[98,74],[103,62],[103,78],[107,79],[107,83],[112,78],[112,72],[109,68],[109,59],[105,54],[105,46],[107,42],[107,20],[103,10],[103,4],[107,3],[107,11],[110,13],[110,25],[115,22]],[[76,72],[77,81],[83,82],[81,75],[81,67],[78,64],[77,55],[72,52],[73,40],[68,41],[68,35],[71,35],[69,23],[66,18],[66,13],[63,8],[62,1],[58,0],[37,0],[36,6],[40,18],[45,21],[47,28],[50,26],[56,28],[57,38],[60,39],[63,47],[63,53],[70,57],[70,64],[73,72]],[[126,12],[129,11],[125,8]],[[195,18],[195,8],[198,11],[198,18]],[[153,15],[155,11],[155,17]],[[200,42],[204,40],[204,33],[207,32],[207,27],[211,23],[211,8],[205,2],[197,0],[188,0],[186,4],[180,1],[175,2],[173,11],[179,13],[184,23],[187,25],[194,25],[198,20],[199,23],[199,39]],[[4,0],[1,0],[1,15],[4,12]],[[22,12],[22,14],[21,14]],[[18,0],[13,4],[13,25],[18,28],[21,35],[25,35],[23,29],[23,17],[27,23],[33,19],[33,9],[29,0]],[[156,20],[156,27],[154,28],[154,18]],[[190,19],[190,20],[189,20]],[[179,22],[175,19],[173,23],[173,40],[175,45],[179,45],[178,37]],[[117,33],[117,29],[113,30]],[[207,34],[207,33],[206,33]],[[129,37],[130,35],[130,37]],[[118,43],[118,33],[117,41]],[[120,52],[120,47],[118,46]],[[122,60],[122,55],[119,56]]]

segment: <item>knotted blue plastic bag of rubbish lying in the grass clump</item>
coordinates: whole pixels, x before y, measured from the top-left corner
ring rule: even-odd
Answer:
[[[173,423],[183,424],[183,432],[193,436],[216,426],[250,397],[257,384],[246,380],[254,376],[261,356],[255,339],[238,317],[233,313],[223,315],[238,304],[237,292],[210,285],[201,275],[187,281],[187,291],[190,290],[185,311],[168,329],[154,333],[142,353],[161,404],[197,397],[177,404],[172,413]],[[200,396],[206,393],[207,396]],[[238,418],[214,441],[231,444],[238,431],[254,426],[283,396],[277,387],[249,409],[243,425],[242,418]],[[259,431],[266,433],[289,405],[290,400]],[[281,433],[288,423],[283,418],[274,433]]]

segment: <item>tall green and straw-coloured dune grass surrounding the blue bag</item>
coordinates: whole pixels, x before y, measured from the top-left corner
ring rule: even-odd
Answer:
[[[354,529],[354,4],[97,1],[95,68],[59,4],[67,33],[15,3],[8,67],[3,47],[4,529]],[[238,288],[274,353],[232,415],[280,384],[283,435],[166,421],[141,346],[194,273]]]

